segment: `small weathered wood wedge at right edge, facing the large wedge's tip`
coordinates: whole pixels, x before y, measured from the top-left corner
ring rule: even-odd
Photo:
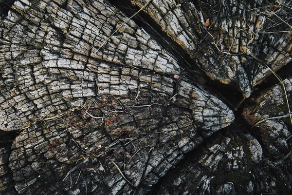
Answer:
[[[292,104],[292,78],[283,80],[285,91]],[[269,157],[285,156],[292,149],[292,122],[287,107],[286,96],[281,84],[267,89],[252,98],[244,107],[243,116],[256,127],[256,134]]]

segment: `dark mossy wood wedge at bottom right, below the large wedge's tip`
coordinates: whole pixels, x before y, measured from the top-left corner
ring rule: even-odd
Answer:
[[[204,143],[153,194],[290,194],[291,165],[272,163],[255,137],[230,130]]]

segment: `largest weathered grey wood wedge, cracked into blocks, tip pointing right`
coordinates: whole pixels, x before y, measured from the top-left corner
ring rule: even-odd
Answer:
[[[21,130],[19,194],[144,194],[233,121],[144,29],[114,32],[126,20],[104,0],[16,1],[1,19],[0,128]]]

